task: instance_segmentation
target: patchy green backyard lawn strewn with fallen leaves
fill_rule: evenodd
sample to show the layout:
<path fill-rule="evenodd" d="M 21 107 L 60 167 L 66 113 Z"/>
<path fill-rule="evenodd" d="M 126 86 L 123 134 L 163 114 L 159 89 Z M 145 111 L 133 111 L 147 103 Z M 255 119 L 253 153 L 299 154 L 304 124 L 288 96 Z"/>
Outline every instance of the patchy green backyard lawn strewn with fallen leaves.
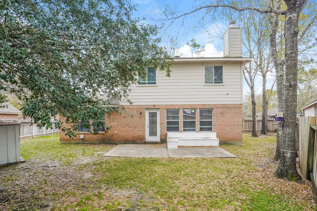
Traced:
<path fill-rule="evenodd" d="M 316 210 L 309 181 L 274 176 L 276 136 L 243 135 L 238 158 L 106 158 L 114 145 L 21 142 L 26 163 L 0 168 L 2 209 Z M 1 185 L 0 185 L 1 190 Z M 23 196 L 27 197 L 23 197 Z M 10 200 L 1 204 L 1 199 Z"/>

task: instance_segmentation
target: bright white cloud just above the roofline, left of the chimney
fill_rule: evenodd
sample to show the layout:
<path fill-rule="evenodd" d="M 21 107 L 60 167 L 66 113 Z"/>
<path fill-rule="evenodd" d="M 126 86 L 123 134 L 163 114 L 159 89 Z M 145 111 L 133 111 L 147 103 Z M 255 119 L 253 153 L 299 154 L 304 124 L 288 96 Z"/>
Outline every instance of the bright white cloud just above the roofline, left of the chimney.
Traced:
<path fill-rule="evenodd" d="M 180 57 L 223 57 L 223 52 L 217 51 L 217 48 L 212 43 L 207 43 L 206 47 L 198 49 L 197 53 L 194 51 L 189 45 L 184 45 L 175 50 L 175 55 L 179 55 Z"/>

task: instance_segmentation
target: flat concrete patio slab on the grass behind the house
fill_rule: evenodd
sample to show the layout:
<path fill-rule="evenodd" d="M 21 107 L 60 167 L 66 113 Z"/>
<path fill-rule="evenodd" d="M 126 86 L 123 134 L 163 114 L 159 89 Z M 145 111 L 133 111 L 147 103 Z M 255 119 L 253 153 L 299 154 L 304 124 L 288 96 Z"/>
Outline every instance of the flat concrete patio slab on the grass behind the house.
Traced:
<path fill-rule="evenodd" d="M 178 149 L 167 149 L 166 145 L 163 144 L 120 144 L 103 156 L 136 158 L 236 158 L 236 156 L 220 147 L 178 147 Z"/>

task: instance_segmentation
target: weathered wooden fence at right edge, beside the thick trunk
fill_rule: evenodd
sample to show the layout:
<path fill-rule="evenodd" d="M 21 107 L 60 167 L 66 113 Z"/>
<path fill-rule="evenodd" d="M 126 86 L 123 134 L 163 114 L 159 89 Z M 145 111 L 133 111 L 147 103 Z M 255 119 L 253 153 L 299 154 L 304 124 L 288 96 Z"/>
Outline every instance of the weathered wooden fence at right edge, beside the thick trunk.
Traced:
<path fill-rule="evenodd" d="M 316 117 L 299 117 L 297 154 L 303 177 L 312 181 L 317 202 L 317 121 Z"/>

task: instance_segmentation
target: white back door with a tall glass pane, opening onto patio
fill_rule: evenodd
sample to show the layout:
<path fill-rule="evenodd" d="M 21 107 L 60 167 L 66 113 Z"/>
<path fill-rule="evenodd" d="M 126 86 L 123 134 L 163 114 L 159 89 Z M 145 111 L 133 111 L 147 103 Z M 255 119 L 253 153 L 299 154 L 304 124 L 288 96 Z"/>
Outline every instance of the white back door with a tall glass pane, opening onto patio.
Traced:
<path fill-rule="evenodd" d="M 146 141 L 159 141 L 159 110 L 146 110 Z"/>

